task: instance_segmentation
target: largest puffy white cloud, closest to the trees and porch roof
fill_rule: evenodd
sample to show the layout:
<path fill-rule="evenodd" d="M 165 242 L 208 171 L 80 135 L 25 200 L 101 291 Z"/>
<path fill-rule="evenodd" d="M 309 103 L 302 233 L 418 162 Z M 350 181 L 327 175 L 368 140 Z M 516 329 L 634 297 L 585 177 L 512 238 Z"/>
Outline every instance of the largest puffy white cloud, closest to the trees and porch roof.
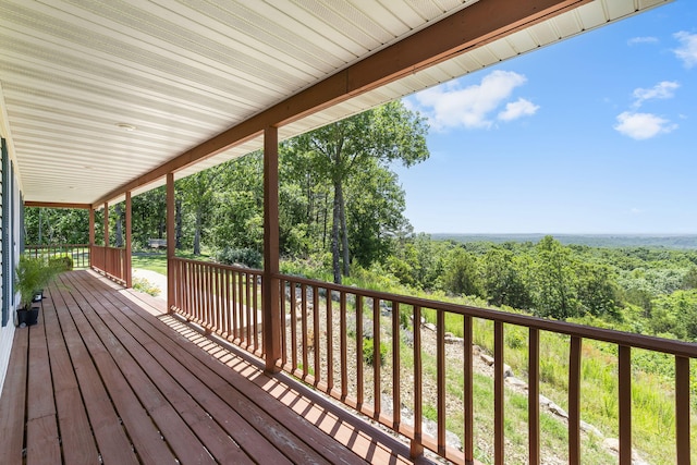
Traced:
<path fill-rule="evenodd" d="M 447 130 L 451 127 L 480 129 L 491 127 L 493 112 L 505 106 L 498 117 L 511 121 L 534 114 L 539 107 L 518 99 L 506 102 L 513 90 L 525 84 L 526 77 L 512 71 L 493 71 L 487 74 L 480 84 L 461 88 L 457 83 L 433 87 L 416 94 L 416 101 L 423 107 L 431 127 Z"/>

